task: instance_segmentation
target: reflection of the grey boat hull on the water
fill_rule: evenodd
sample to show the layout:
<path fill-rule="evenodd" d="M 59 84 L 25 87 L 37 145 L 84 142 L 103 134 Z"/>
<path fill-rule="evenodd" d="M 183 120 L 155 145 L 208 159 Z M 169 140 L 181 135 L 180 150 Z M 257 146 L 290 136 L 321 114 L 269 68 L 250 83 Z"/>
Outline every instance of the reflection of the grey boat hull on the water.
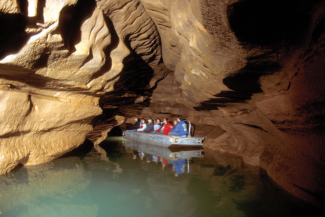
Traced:
<path fill-rule="evenodd" d="M 123 145 L 126 147 L 140 150 L 144 153 L 148 153 L 151 155 L 157 155 L 166 158 L 187 158 L 190 157 L 202 157 L 203 156 L 203 149 L 201 147 L 191 147 L 191 148 L 182 148 L 182 149 L 174 149 L 174 148 L 167 148 L 159 145 L 152 145 L 146 143 L 140 143 L 136 141 L 125 140 L 122 141 Z"/>

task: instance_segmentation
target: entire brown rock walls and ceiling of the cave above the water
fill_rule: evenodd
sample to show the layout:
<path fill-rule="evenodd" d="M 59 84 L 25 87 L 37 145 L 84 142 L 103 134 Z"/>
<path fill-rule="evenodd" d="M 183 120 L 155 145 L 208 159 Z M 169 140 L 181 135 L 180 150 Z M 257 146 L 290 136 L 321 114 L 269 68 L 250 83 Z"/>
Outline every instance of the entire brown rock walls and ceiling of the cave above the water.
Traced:
<path fill-rule="evenodd" d="M 0 0 L 0 30 L 0 174 L 182 114 L 324 201 L 324 0 Z"/>

